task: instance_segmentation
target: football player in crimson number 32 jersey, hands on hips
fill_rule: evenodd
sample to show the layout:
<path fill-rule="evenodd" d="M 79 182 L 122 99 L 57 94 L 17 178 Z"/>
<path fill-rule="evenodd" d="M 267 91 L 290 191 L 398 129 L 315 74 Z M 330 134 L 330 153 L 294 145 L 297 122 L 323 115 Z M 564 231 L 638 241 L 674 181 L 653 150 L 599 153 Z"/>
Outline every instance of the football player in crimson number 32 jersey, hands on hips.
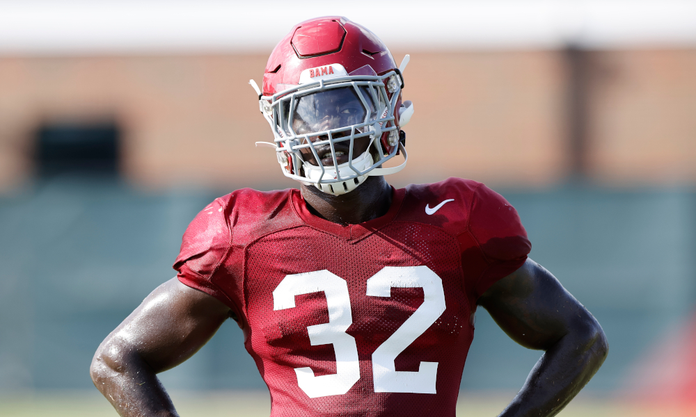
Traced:
<path fill-rule="evenodd" d="M 539 264 L 515 209 L 482 183 L 395 189 L 413 105 L 404 63 L 345 17 L 292 28 L 260 109 L 299 190 L 216 199 L 184 234 L 177 277 L 104 340 L 95 385 L 122 416 L 176 416 L 157 373 L 233 318 L 271 416 L 454 416 L 477 306 L 544 350 L 501 416 L 553 416 L 608 352 L 594 317 Z M 420 139 L 416 139 L 420 140 Z M 429 138 L 436 140 L 436 138 Z M 392 158 L 400 165 L 385 167 Z"/>

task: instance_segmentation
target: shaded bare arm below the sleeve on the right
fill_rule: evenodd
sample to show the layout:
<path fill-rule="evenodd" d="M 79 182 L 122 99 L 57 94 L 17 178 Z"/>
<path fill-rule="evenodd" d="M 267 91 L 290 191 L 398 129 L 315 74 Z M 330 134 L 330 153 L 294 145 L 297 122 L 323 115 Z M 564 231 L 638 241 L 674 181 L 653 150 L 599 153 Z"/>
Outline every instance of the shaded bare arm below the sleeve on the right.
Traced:
<path fill-rule="evenodd" d="M 478 304 L 514 341 L 545 351 L 500 417 L 555 416 L 607 356 L 599 322 L 531 259 L 488 288 Z"/>

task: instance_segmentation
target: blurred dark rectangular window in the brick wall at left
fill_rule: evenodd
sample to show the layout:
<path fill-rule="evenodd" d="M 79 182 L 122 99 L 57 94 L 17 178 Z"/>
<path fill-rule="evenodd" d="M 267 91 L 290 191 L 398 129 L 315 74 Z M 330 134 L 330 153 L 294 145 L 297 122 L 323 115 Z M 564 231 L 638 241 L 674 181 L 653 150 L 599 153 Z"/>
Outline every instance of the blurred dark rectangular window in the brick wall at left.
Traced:
<path fill-rule="evenodd" d="M 45 124 L 38 129 L 36 165 L 41 177 L 118 175 L 120 131 L 113 123 Z"/>

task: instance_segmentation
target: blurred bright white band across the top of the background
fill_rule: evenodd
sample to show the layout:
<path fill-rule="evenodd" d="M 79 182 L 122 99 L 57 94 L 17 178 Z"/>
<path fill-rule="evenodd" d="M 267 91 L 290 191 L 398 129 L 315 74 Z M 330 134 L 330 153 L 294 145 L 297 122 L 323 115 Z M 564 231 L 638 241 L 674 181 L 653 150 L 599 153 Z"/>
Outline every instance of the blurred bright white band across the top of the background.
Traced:
<path fill-rule="evenodd" d="M 3 0 L 0 54 L 265 54 L 321 15 L 361 23 L 391 49 L 696 46 L 695 0 Z"/>

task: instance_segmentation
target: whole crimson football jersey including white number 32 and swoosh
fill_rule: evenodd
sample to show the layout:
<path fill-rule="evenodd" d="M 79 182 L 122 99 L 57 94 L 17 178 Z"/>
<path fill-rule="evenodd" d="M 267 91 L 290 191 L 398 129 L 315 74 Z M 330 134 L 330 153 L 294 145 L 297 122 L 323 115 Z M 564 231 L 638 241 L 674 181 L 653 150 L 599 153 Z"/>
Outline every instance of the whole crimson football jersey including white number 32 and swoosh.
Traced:
<path fill-rule="evenodd" d="M 454 416 L 477 298 L 530 248 L 475 181 L 393 190 L 345 226 L 299 190 L 243 189 L 196 216 L 174 268 L 235 311 L 271 416 Z"/>

